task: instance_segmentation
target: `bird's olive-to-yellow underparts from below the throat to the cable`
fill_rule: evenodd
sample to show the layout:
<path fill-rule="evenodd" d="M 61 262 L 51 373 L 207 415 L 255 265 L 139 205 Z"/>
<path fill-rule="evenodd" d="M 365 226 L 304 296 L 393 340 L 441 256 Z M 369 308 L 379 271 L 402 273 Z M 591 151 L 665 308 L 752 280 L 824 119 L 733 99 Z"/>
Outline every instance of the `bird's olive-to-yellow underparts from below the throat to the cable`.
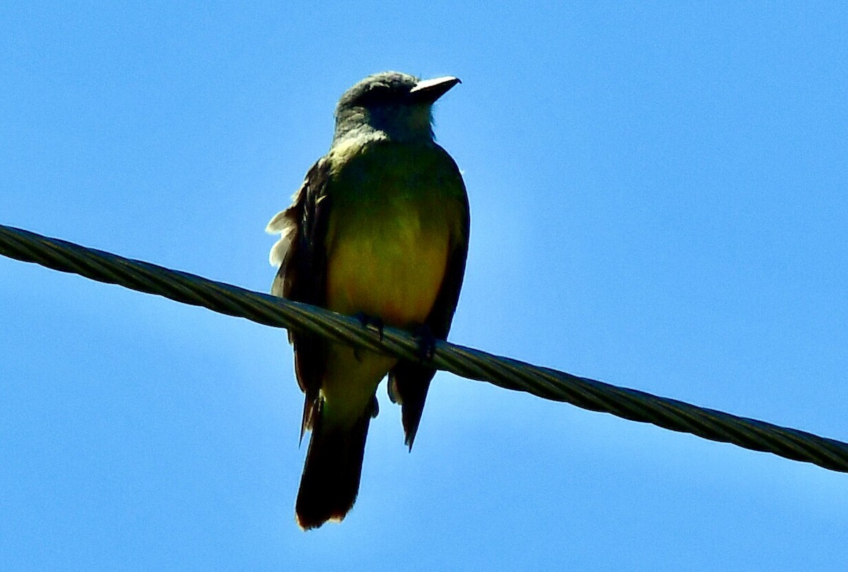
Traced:
<path fill-rule="evenodd" d="M 427 319 L 459 239 L 465 187 L 434 145 L 341 147 L 328 191 L 328 308 L 388 325 Z"/>

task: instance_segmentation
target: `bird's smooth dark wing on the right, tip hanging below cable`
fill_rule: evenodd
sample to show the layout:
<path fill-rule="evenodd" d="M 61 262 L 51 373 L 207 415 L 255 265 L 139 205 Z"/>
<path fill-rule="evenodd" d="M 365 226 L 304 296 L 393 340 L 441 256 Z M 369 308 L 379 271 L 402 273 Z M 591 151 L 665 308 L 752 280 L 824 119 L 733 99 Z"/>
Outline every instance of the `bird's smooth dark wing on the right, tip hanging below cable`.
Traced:
<path fill-rule="evenodd" d="M 447 153 L 445 155 L 448 156 Z M 449 158 L 449 161 L 453 164 L 453 159 Z M 462 208 L 460 231 L 459 236 L 451 237 L 451 250 L 442 286 L 439 288 L 436 302 L 425 321 L 425 325 L 430 329 L 432 336 L 438 340 L 448 338 L 450 322 L 454 319 L 456 303 L 460 298 L 462 278 L 466 271 L 468 237 L 471 230 L 471 215 L 469 214 L 465 185 L 462 182 L 459 169 L 456 168 L 455 164 L 453 166 L 462 190 L 462 198 L 459 203 Z M 433 375 L 436 375 L 435 369 L 406 360 L 399 361 L 388 374 L 388 395 L 394 403 L 401 405 L 404 442 L 410 449 L 416 439 L 418 425 L 421 423 L 421 413 L 424 411 L 424 402 L 427 399 L 427 390 L 430 388 Z"/>

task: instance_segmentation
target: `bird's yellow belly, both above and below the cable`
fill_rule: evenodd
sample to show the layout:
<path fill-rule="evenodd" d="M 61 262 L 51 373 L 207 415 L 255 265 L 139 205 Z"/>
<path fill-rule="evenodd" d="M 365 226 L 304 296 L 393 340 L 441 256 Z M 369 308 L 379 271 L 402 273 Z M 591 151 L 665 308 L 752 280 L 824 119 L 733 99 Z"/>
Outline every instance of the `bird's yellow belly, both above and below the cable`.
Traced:
<path fill-rule="evenodd" d="M 328 244 L 327 308 L 342 314 L 362 312 L 386 325 L 420 325 L 436 300 L 448 258 L 449 230 L 422 229 L 414 214 L 368 222 L 332 225 Z M 358 419 L 377 384 L 396 358 L 356 351 L 333 343 L 326 354 L 321 384 L 326 422 Z"/>

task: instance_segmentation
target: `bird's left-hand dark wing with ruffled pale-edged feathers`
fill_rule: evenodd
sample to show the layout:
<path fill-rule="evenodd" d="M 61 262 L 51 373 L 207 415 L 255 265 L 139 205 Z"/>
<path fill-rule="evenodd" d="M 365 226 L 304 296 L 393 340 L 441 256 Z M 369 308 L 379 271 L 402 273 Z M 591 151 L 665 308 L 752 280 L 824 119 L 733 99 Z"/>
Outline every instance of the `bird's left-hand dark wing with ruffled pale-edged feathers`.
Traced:
<path fill-rule="evenodd" d="M 282 233 L 280 242 L 271 250 L 272 261 L 276 258 L 280 262 L 271 286 L 271 293 L 275 296 L 315 306 L 326 304 L 324 239 L 330 213 L 330 197 L 327 196 L 329 173 L 329 161 L 319 159 L 294 194 L 292 206 L 271 219 L 269 230 Z M 287 232 L 288 241 L 284 242 Z M 304 430 L 312 428 L 317 412 L 326 344 L 320 336 L 294 330 L 289 330 L 288 340 L 294 347 L 298 385 L 305 394 L 304 417 L 300 426 L 300 436 L 303 437 Z"/>

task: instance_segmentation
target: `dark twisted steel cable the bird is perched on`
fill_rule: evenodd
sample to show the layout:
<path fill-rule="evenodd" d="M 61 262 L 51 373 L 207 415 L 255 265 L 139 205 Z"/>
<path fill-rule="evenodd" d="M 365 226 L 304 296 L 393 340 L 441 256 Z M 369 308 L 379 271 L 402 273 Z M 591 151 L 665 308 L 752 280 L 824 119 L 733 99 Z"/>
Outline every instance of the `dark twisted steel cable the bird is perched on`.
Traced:
<path fill-rule="evenodd" d="M 123 258 L 28 230 L 0 225 L 0 254 L 92 280 L 203 306 L 278 328 L 293 328 L 399 358 L 418 359 L 418 342 L 404 330 L 363 327 L 359 320 L 187 272 Z M 571 403 L 711 441 L 733 443 L 824 469 L 848 472 L 848 443 L 801 430 L 700 408 L 667 397 L 525 364 L 470 347 L 437 342 L 432 366 L 514 391 Z"/>

